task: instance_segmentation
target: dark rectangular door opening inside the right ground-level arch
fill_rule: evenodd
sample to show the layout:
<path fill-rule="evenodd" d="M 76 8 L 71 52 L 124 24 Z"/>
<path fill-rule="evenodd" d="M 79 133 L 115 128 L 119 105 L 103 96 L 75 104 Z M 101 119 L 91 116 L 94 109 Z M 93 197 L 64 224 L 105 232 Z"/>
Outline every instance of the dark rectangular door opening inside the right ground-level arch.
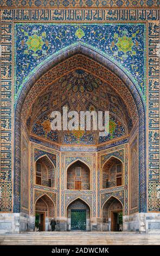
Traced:
<path fill-rule="evenodd" d="M 121 231 L 123 224 L 121 211 L 111 211 L 111 231 Z"/>

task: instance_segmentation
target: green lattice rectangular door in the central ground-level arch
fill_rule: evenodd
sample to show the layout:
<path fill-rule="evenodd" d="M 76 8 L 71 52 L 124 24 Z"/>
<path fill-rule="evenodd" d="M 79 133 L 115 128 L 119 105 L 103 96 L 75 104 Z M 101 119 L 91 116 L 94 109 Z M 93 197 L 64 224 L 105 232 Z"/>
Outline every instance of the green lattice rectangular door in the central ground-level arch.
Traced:
<path fill-rule="evenodd" d="M 71 210 L 71 230 L 86 230 L 86 210 Z"/>

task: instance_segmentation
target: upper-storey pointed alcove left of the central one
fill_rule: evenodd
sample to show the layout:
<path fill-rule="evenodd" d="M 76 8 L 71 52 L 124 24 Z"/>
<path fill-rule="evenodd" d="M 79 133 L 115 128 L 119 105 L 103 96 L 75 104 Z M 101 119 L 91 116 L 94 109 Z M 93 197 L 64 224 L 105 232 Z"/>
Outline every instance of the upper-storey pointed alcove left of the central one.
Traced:
<path fill-rule="evenodd" d="M 35 163 L 35 184 L 55 187 L 55 168 L 46 155 L 42 156 Z"/>

